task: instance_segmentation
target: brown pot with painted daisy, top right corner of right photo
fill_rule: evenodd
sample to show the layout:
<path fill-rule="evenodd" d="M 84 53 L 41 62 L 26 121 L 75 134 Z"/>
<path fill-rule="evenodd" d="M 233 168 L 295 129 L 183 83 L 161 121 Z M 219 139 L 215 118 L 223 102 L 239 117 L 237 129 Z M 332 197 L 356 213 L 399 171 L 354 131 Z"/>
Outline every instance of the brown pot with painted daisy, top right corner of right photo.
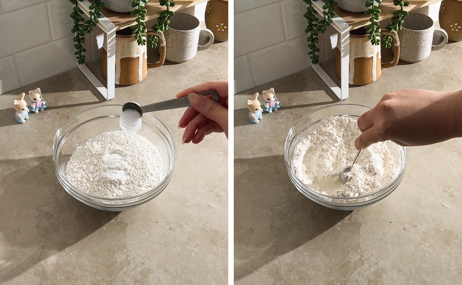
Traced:
<path fill-rule="evenodd" d="M 450 41 L 462 41 L 462 0 L 444 0 L 439 8 L 439 26 Z"/>

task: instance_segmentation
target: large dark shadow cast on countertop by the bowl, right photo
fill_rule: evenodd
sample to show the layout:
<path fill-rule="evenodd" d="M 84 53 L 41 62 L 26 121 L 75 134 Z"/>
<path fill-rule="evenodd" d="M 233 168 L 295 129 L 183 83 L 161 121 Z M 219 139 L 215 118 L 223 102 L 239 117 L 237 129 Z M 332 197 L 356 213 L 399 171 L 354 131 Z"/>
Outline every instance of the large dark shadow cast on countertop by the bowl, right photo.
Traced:
<path fill-rule="evenodd" d="M 261 161 L 261 157 L 234 160 L 235 281 L 316 238 L 352 213 L 326 208 L 298 192 L 287 176 L 283 155 Z M 258 169 L 256 173 L 252 166 Z"/>

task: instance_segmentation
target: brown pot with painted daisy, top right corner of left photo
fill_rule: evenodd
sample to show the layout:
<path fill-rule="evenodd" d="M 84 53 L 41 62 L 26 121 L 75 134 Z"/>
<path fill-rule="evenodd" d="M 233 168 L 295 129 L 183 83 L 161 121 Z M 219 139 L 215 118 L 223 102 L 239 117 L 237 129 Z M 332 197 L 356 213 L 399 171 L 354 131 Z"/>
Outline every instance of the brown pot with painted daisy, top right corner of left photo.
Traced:
<path fill-rule="evenodd" d="M 205 10 L 205 25 L 216 41 L 228 40 L 228 0 L 210 0 Z"/>

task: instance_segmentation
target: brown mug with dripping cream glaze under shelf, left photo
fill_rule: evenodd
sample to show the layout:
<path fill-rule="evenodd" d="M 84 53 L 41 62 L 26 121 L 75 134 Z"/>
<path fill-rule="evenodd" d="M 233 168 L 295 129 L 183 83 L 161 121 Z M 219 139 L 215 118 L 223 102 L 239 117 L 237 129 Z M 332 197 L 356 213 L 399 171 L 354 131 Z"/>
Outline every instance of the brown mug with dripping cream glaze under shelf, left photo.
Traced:
<path fill-rule="evenodd" d="M 159 31 L 147 30 L 147 36 L 158 36 L 160 59 L 155 63 L 147 62 L 147 45 L 138 45 L 135 35 L 132 34 L 131 28 L 116 31 L 116 84 L 133 85 L 141 82 L 146 78 L 149 68 L 159 67 L 165 61 L 165 38 L 164 34 Z M 103 76 L 107 79 L 107 52 L 106 52 L 106 34 L 104 34 L 103 43 Z"/>

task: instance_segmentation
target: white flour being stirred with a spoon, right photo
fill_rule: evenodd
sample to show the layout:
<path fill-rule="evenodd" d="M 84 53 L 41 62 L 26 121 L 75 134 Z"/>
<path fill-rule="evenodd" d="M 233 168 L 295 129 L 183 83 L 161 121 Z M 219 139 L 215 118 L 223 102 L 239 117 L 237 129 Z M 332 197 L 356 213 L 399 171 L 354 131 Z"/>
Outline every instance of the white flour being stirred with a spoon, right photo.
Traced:
<path fill-rule="evenodd" d="M 389 184 L 396 177 L 396 166 L 387 145 L 381 142 L 361 151 L 351 179 L 341 185 L 340 172 L 351 166 L 358 154 L 354 141 L 360 134 L 354 119 L 322 119 L 296 147 L 295 175 L 310 188 L 337 197 L 367 195 Z"/>

